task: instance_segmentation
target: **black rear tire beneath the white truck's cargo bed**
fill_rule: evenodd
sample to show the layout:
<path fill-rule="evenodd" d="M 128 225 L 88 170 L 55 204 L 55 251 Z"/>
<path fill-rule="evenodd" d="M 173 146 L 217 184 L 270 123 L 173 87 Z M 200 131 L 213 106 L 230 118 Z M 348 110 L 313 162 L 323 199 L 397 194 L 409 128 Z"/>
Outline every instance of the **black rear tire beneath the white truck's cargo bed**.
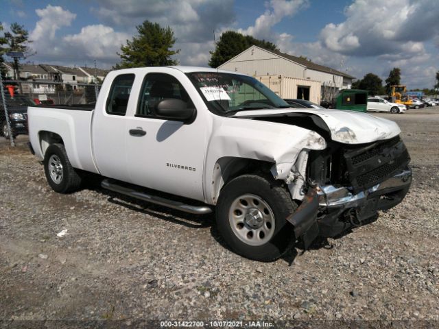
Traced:
<path fill-rule="evenodd" d="M 61 164 L 60 175 L 56 175 L 54 171 L 54 164 L 59 160 Z M 66 149 L 62 144 L 51 144 L 47 147 L 44 154 L 44 171 L 47 182 L 50 187 L 58 193 L 71 193 L 78 191 L 81 185 L 81 176 L 71 166 Z M 58 178 L 54 178 L 54 176 Z"/>

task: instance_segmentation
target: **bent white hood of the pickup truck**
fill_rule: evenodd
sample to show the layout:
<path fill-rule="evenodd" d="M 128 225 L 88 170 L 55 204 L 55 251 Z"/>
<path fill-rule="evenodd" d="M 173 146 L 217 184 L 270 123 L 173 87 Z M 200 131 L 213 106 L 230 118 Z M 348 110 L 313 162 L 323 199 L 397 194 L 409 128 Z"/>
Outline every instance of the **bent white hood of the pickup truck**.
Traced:
<path fill-rule="evenodd" d="M 270 117 L 303 117 L 313 118 L 320 127 L 331 134 L 333 141 L 344 144 L 372 143 L 397 136 L 399 126 L 387 119 L 374 117 L 367 113 L 346 110 L 318 109 L 278 109 L 278 110 L 248 110 L 237 112 L 233 117 L 264 120 Z M 319 118 L 320 120 L 318 120 Z M 316 120 L 317 119 L 317 120 Z M 293 123 L 292 123 L 293 121 Z M 323 121 L 319 122 L 319 121 Z M 294 119 L 285 121 L 294 125 Z"/>

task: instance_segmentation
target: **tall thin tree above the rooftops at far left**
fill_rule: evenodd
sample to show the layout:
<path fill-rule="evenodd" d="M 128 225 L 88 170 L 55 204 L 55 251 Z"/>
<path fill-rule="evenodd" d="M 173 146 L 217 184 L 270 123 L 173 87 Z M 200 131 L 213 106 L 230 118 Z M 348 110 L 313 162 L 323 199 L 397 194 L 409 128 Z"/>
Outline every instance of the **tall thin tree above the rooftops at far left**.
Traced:
<path fill-rule="evenodd" d="M 8 44 L 6 51 L 18 51 L 24 54 L 24 58 L 34 55 L 32 49 L 29 47 L 29 32 L 23 25 L 19 23 L 11 24 L 11 32 L 5 34 L 6 43 Z M 14 69 L 14 80 L 20 78 L 20 58 L 14 57 L 12 62 L 12 69 Z"/>

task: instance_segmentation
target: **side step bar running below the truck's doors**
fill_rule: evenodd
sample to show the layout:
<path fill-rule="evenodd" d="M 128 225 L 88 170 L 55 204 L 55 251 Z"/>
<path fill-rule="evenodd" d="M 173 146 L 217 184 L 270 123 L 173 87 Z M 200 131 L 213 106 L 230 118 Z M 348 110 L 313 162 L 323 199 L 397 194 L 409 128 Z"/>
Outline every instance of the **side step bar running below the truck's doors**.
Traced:
<path fill-rule="evenodd" d="M 159 204 L 161 206 L 173 208 L 176 210 L 190 212 L 191 214 L 205 215 L 212 212 L 212 208 L 209 206 L 191 206 L 190 204 L 183 204 L 182 202 L 139 192 L 134 190 L 133 188 L 129 188 L 126 186 L 120 186 L 116 183 L 110 182 L 110 180 L 108 179 L 103 180 L 101 182 L 101 186 L 103 188 L 106 188 L 107 190 L 121 193 L 123 195 L 128 195 L 128 197 L 134 197 L 136 199 L 141 199 L 146 202 L 151 202 L 152 204 Z"/>

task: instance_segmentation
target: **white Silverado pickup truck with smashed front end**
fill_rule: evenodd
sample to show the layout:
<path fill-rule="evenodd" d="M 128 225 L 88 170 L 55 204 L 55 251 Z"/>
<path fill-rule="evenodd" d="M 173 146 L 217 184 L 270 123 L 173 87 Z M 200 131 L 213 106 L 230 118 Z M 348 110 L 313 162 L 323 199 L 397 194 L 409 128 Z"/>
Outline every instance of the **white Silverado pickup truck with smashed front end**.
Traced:
<path fill-rule="evenodd" d="M 95 106 L 28 108 L 51 188 L 102 186 L 206 214 L 237 254 L 279 258 L 392 208 L 410 187 L 396 123 L 293 109 L 248 75 L 169 66 L 112 71 Z"/>

